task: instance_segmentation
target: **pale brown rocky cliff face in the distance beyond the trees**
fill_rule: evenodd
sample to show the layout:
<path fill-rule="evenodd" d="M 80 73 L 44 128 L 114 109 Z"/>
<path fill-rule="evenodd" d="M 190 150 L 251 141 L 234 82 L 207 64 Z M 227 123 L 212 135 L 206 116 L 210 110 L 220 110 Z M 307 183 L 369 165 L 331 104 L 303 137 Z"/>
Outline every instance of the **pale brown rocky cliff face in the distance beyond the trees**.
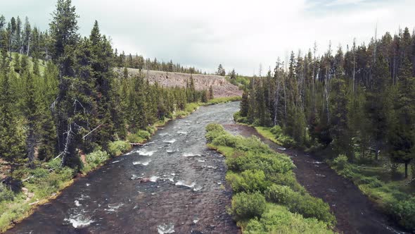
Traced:
<path fill-rule="evenodd" d="M 117 68 L 118 73 L 122 73 L 121 68 Z M 128 68 L 129 75 L 138 75 L 139 69 Z M 149 82 L 158 82 L 159 85 L 165 87 L 185 87 L 186 81 L 190 81 L 190 74 L 186 73 L 167 73 L 159 70 L 141 70 L 146 75 Z M 242 91 L 237 86 L 232 85 L 223 76 L 219 75 L 196 75 L 193 74 L 193 81 L 196 90 L 209 90 L 210 85 L 213 88 L 215 97 L 234 97 L 241 96 Z"/>

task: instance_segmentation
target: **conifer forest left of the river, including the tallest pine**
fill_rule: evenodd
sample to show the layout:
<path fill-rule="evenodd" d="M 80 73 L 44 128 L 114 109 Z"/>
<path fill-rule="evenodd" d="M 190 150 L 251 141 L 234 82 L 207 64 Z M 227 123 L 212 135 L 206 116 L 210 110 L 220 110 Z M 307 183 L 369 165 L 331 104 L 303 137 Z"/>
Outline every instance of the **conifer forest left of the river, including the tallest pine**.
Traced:
<path fill-rule="evenodd" d="M 51 16 L 48 32 L 29 30 L 26 20 L 23 35 L 20 20 L 5 26 L 0 18 L 2 160 L 33 167 L 60 157 L 61 166 L 80 168 L 79 154 L 106 150 L 186 104 L 212 98 L 196 91 L 193 78 L 186 87 L 167 88 L 144 74 L 115 73 L 119 56 L 108 37 L 97 21 L 89 37 L 81 37 L 70 0 L 58 0 Z M 45 56 L 50 59 L 39 59 Z"/>

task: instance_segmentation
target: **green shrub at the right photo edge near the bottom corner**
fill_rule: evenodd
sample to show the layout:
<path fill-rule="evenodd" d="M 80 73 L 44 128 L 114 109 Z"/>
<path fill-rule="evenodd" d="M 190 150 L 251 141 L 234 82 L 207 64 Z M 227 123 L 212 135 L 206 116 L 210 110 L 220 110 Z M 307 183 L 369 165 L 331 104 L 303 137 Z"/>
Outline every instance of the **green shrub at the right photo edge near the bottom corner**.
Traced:
<path fill-rule="evenodd" d="M 399 223 L 409 230 L 415 229 L 415 197 L 392 205 L 392 211 L 399 217 Z"/>

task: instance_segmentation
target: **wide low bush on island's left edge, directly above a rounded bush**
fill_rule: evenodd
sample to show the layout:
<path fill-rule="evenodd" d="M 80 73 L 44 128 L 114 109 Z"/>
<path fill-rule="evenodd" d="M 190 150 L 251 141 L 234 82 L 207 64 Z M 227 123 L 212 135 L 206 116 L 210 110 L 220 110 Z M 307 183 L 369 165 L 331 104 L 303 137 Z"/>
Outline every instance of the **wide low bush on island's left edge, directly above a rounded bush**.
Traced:
<path fill-rule="evenodd" d="M 243 171 L 241 174 L 228 173 L 226 180 L 234 192 L 264 192 L 269 186 L 264 171 Z"/>

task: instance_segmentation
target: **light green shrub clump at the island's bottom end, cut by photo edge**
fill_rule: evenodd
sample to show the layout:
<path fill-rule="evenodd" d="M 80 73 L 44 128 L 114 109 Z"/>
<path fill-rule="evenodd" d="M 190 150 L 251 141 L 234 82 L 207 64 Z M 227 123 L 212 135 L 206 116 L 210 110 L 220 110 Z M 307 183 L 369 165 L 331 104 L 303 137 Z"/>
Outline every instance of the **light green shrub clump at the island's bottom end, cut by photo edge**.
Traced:
<path fill-rule="evenodd" d="M 253 218 L 245 228 L 246 233 L 333 233 L 326 223 L 315 218 L 303 218 L 290 213 L 285 207 L 272 205 L 260 219 Z M 245 233 L 244 232 L 244 233 Z"/>

